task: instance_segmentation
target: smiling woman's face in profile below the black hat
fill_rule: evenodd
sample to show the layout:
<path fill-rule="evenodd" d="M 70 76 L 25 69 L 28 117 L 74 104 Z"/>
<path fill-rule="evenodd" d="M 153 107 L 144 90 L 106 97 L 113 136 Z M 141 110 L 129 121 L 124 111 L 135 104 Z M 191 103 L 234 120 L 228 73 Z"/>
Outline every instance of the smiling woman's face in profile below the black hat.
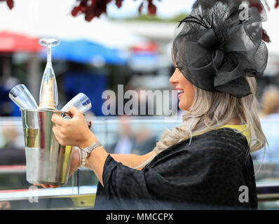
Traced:
<path fill-rule="evenodd" d="M 193 97 L 195 96 L 193 84 L 190 83 L 177 68 L 170 77 L 170 83 L 175 85 L 175 90 L 178 90 L 179 109 L 182 111 L 189 111 L 193 104 Z"/>

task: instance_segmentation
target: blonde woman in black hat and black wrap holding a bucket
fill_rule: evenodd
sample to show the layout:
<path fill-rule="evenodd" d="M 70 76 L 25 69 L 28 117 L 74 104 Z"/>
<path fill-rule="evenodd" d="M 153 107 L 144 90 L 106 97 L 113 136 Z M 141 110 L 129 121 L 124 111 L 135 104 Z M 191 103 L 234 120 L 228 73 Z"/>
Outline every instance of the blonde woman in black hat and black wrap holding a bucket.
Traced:
<path fill-rule="evenodd" d="M 257 209 L 250 153 L 266 145 L 253 77 L 266 68 L 264 8 L 259 1 L 241 3 L 196 1 L 179 23 L 170 83 L 179 92 L 183 123 L 150 153 L 109 155 L 78 109 L 69 110 L 71 120 L 53 116 L 60 144 L 94 148 L 85 165 L 100 181 L 96 209 Z M 71 172 L 82 163 L 76 150 Z"/>

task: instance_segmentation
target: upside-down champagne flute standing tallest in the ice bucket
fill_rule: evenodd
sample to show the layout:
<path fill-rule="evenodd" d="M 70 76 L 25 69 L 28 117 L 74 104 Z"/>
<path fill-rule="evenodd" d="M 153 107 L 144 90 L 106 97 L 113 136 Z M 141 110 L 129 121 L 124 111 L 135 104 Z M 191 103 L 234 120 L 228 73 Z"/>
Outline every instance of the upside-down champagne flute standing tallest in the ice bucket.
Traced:
<path fill-rule="evenodd" d="M 57 110 L 58 92 L 51 61 L 51 47 L 59 45 L 60 41 L 55 38 L 41 38 L 39 43 L 48 48 L 46 69 L 43 72 L 43 78 L 41 80 L 39 109 Z"/>

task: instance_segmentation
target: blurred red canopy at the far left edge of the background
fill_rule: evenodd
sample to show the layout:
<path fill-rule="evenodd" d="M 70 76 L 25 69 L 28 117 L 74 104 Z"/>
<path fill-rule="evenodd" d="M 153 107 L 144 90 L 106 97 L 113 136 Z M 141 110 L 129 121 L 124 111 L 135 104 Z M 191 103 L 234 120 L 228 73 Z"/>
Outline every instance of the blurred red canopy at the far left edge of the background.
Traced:
<path fill-rule="evenodd" d="M 38 52 L 43 46 L 38 38 L 16 34 L 9 31 L 0 32 L 0 52 Z"/>

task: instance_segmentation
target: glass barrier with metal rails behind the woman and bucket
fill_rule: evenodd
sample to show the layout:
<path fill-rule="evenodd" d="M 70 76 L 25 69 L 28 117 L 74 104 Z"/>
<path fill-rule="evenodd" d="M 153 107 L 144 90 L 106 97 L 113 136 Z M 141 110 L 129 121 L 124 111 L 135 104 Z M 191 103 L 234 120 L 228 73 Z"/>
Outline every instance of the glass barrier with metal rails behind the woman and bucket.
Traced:
<path fill-rule="evenodd" d="M 137 155 L 151 151 L 166 129 L 172 130 L 182 123 L 182 120 L 154 117 L 97 117 L 90 121 L 91 131 L 108 153 Z M 279 120 L 261 120 L 261 125 L 269 148 L 266 148 L 265 156 L 264 150 L 252 153 L 259 188 L 259 209 L 279 209 Z M 0 133 L 0 205 L 8 202 L 11 209 L 93 207 L 98 183 L 94 172 L 84 167 L 74 172 L 65 186 L 55 189 L 34 188 L 26 180 L 21 118 L 1 118 Z M 30 192 L 35 192 L 35 196 L 39 197 L 38 203 L 32 203 Z M 271 194 L 275 196 L 268 200 L 266 193 L 270 198 Z"/>

